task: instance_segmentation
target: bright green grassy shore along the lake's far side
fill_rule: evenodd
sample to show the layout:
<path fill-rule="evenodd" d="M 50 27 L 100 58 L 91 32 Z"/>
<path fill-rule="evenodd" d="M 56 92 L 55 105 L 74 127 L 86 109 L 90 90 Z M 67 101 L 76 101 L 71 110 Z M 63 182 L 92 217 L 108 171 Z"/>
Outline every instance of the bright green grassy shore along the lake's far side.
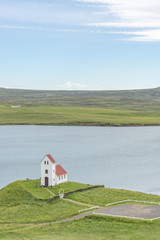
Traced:
<path fill-rule="evenodd" d="M 160 125 L 160 111 L 82 107 L 0 106 L 0 125 L 147 126 Z"/>

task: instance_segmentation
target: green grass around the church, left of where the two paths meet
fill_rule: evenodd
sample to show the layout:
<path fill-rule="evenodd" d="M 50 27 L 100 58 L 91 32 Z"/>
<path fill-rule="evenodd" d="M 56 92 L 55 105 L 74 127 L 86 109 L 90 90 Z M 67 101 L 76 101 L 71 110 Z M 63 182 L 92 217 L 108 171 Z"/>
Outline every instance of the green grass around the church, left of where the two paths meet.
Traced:
<path fill-rule="evenodd" d="M 38 187 L 36 188 L 36 184 Z M 75 182 L 61 184 L 67 191 L 86 188 L 88 185 Z M 59 187 L 55 187 L 58 193 Z M 54 187 L 52 188 L 54 190 Z M 1 223 L 37 223 L 58 221 L 78 214 L 84 209 L 60 199 L 48 203 L 51 194 L 40 186 L 40 180 L 16 181 L 0 190 L 0 222 Z"/>

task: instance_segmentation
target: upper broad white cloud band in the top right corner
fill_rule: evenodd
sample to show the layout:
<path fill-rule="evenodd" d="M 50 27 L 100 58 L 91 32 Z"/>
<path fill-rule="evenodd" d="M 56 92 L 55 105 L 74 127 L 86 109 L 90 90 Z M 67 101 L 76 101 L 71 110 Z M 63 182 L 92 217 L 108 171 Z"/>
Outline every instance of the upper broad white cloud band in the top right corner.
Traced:
<path fill-rule="evenodd" d="M 93 22 L 90 25 L 102 27 L 157 27 L 160 26 L 159 0 L 77 0 L 86 3 L 104 4 L 112 20 Z M 102 12 L 105 14 L 105 12 Z"/>

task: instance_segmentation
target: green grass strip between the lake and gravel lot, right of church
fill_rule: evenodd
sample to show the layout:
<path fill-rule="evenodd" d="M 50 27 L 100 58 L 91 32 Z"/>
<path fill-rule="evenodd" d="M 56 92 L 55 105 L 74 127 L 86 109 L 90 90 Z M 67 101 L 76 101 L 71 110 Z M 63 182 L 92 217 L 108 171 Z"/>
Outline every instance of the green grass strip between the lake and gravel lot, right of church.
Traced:
<path fill-rule="evenodd" d="M 112 188 L 97 188 L 86 190 L 85 192 L 78 192 L 68 195 L 67 198 L 99 206 L 105 206 L 108 203 L 123 201 L 127 199 L 160 202 L 160 196 L 158 195 Z"/>

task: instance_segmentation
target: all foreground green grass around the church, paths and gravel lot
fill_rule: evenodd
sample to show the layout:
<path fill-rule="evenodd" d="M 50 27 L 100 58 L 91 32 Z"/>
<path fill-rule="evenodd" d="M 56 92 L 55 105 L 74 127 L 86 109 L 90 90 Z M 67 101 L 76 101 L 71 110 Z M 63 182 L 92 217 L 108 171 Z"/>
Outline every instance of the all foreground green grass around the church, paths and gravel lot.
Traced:
<path fill-rule="evenodd" d="M 86 207 L 59 199 L 48 203 L 48 192 L 39 184 L 39 180 L 16 181 L 0 190 L 0 239 L 159 239 L 160 220 L 150 222 L 88 216 L 72 222 L 53 223 L 74 216 L 78 214 L 79 209 Z M 74 182 L 63 184 L 66 192 L 83 187 L 88 185 Z M 99 205 L 128 198 L 160 202 L 160 196 L 110 188 L 86 190 L 69 196 L 80 202 Z"/>

